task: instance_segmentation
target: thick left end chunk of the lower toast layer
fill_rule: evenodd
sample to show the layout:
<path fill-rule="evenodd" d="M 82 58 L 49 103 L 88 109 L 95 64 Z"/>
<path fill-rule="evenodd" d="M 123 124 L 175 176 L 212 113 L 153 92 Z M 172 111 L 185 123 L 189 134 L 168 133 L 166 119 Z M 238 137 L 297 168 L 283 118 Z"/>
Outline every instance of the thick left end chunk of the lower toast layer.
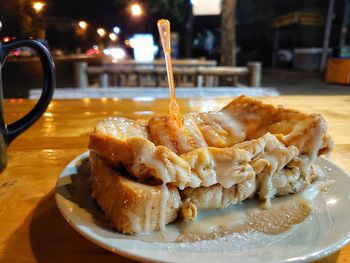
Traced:
<path fill-rule="evenodd" d="M 134 234 L 158 230 L 161 187 L 135 182 L 90 152 L 92 197 L 121 233 Z M 165 223 L 174 221 L 181 205 L 179 192 L 169 187 Z"/>

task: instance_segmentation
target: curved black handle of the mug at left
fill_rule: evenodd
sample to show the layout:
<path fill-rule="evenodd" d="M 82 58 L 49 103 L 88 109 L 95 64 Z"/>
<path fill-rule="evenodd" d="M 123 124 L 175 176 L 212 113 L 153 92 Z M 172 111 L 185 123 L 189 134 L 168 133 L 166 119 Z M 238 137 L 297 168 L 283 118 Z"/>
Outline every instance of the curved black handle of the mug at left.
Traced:
<path fill-rule="evenodd" d="M 18 135 L 28 129 L 41 117 L 49 105 L 56 85 L 55 64 L 47 48 L 37 40 L 21 39 L 14 42 L 3 43 L 0 51 L 0 62 L 4 63 L 6 56 L 16 48 L 30 47 L 36 51 L 44 73 L 44 84 L 39 101 L 34 108 L 21 119 L 7 125 L 5 140 L 9 145 Z"/>

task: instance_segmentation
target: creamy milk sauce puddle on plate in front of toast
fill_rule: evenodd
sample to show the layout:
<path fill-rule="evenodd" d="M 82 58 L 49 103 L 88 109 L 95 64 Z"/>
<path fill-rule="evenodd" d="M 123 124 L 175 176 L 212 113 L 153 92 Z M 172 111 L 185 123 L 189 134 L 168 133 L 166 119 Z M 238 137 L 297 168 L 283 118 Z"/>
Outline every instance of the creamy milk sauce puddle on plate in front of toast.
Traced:
<path fill-rule="evenodd" d="M 319 193 L 316 186 L 310 186 L 297 194 L 276 197 L 268 210 L 259 208 L 259 202 L 251 199 L 225 209 L 199 211 L 195 221 L 172 223 L 163 231 L 132 238 L 146 242 L 193 243 L 234 233 L 278 235 L 302 223 L 312 214 L 313 203 L 319 199 Z"/>

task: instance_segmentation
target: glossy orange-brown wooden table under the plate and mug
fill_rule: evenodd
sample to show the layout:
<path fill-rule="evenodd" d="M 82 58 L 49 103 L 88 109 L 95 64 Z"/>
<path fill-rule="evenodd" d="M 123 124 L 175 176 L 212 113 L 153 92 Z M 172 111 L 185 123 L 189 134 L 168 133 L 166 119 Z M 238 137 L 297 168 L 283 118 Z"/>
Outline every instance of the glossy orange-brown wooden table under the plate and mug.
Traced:
<path fill-rule="evenodd" d="M 219 109 L 229 99 L 180 100 L 182 112 Z M 332 161 L 350 171 L 350 96 L 264 98 L 327 119 L 336 148 Z M 7 100 L 7 122 L 34 101 Z M 65 165 L 87 150 L 95 123 L 109 115 L 149 118 L 166 114 L 167 100 L 82 99 L 53 101 L 44 116 L 8 149 L 0 174 L 0 262 L 129 262 L 80 236 L 60 215 L 54 201 L 56 179 Z M 319 262 L 346 262 L 350 245 Z M 350 261 L 349 261 L 350 262 Z"/>

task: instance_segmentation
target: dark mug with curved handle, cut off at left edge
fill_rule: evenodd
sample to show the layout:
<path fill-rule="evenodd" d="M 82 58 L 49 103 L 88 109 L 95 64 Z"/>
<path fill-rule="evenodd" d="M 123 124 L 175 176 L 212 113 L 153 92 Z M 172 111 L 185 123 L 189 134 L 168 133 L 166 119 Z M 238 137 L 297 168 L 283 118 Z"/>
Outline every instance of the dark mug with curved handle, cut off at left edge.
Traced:
<path fill-rule="evenodd" d="M 4 111 L 3 111 L 3 89 L 2 89 L 2 78 L 1 68 L 6 60 L 6 56 L 13 50 L 20 47 L 29 47 L 36 51 L 36 54 L 40 58 L 40 62 L 44 74 L 43 91 L 40 99 L 34 108 L 24 117 L 11 123 L 5 124 Z M 53 91 L 55 88 L 55 65 L 52 57 L 47 48 L 39 41 L 32 39 L 15 40 L 6 43 L 0 42 L 0 172 L 2 172 L 7 165 L 6 150 L 9 144 L 22 132 L 28 129 L 34 124 L 36 120 L 45 112 L 49 105 Z"/>

